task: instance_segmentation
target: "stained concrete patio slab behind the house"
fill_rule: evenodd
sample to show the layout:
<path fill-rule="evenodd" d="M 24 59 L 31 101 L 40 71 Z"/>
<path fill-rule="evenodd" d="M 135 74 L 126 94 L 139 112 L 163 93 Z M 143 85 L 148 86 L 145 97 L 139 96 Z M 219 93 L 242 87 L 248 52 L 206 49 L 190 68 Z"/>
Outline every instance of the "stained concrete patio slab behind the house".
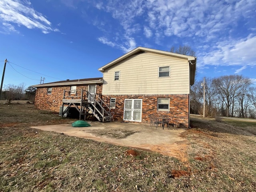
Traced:
<path fill-rule="evenodd" d="M 72 127 L 72 124 L 60 124 L 60 125 L 47 125 L 47 126 L 33 126 L 32 128 L 53 131 L 67 134 L 69 136 L 77 136 L 82 138 L 88 138 L 99 142 L 108 142 L 115 145 L 139 148 L 143 150 L 150 150 L 159 152 L 161 154 L 175 156 L 174 151 L 177 147 L 176 142 L 181 142 L 184 138 L 181 138 L 180 133 L 185 129 L 167 129 L 162 127 L 157 129 L 149 125 L 124 123 L 124 122 L 88 122 L 90 127 Z M 136 132 L 126 138 L 110 138 L 107 135 L 97 136 L 90 133 L 92 130 L 109 129 L 113 130 L 129 130 Z"/>

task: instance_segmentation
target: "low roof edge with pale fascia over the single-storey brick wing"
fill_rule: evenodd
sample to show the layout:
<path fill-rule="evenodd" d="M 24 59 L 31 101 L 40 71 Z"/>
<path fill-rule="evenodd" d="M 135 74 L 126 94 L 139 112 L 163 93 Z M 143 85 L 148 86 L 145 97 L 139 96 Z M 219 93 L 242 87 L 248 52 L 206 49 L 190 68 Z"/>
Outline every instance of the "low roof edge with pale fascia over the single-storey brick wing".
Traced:
<path fill-rule="evenodd" d="M 66 86 L 66 85 L 88 85 L 88 84 L 103 84 L 102 77 L 98 78 L 86 78 L 86 79 L 76 79 L 76 80 L 65 80 L 56 81 L 38 85 L 32 85 L 32 87 L 52 87 L 52 86 Z"/>

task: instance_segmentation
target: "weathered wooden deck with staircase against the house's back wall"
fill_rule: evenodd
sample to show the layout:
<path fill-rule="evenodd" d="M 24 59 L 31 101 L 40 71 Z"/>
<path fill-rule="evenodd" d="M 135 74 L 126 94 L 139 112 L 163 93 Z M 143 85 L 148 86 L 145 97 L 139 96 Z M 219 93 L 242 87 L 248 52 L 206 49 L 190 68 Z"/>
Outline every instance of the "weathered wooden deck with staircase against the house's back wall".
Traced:
<path fill-rule="evenodd" d="M 65 110 L 64 107 L 66 106 Z M 68 109 L 74 106 L 79 112 L 79 120 L 84 115 L 84 120 L 89 114 L 93 114 L 95 118 L 100 122 L 110 122 L 113 119 L 113 113 L 110 112 L 109 106 L 100 98 L 99 94 L 92 94 L 84 90 L 76 91 L 75 94 L 71 94 L 70 91 L 64 90 L 63 99 L 62 99 L 62 112 L 60 111 L 61 116 L 63 117 Z"/>

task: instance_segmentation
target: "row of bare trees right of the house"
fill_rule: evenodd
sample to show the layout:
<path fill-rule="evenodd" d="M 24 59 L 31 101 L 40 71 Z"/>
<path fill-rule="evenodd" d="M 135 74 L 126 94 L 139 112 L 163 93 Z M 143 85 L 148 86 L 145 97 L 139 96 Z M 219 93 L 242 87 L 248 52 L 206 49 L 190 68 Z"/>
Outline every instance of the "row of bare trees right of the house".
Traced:
<path fill-rule="evenodd" d="M 190 89 L 190 113 L 203 114 L 201 81 Z M 256 118 L 256 87 L 242 75 L 205 78 L 205 116 Z"/>

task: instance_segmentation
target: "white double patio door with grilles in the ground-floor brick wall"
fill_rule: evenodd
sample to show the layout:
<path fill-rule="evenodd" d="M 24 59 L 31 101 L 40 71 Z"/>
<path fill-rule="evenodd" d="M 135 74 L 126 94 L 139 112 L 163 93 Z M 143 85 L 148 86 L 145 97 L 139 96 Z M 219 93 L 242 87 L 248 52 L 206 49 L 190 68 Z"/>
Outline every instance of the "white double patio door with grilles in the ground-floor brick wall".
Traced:
<path fill-rule="evenodd" d="M 141 122 L 142 99 L 124 100 L 124 120 Z"/>

